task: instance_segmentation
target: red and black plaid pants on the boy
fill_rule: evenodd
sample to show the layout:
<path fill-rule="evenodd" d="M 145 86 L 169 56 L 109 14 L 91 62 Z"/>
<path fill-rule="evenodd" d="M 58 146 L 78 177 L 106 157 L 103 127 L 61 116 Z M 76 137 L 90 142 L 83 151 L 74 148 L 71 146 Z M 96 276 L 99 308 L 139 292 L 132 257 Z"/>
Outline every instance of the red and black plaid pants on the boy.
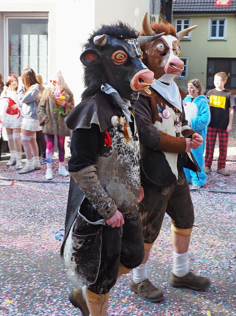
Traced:
<path fill-rule="evenodd" d="M 209 168 L 211 167 L 217 133 L 219 136 L 219 145 L 220 145 L 218 169 L 223 169 L 225 168 L 229 134 L 227 133 L 226 130 L 222 130 L 220 128 L 210 127 L 210 126 L 208 126 L 207 134 L 206 134 L 205 166 Z"/>

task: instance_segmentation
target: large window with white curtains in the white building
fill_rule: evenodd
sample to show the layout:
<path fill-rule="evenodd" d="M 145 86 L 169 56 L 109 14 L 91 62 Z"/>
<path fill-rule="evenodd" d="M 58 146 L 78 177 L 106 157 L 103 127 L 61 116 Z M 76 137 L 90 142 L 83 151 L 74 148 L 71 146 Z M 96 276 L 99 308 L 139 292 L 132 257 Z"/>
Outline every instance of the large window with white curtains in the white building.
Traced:
<path fill-rule="evenodd" d="M 31 67 L 47 83 L 48 19 L 8 17 L 7 30 L 8 73 L 21 76 L 23 69 Z"/>

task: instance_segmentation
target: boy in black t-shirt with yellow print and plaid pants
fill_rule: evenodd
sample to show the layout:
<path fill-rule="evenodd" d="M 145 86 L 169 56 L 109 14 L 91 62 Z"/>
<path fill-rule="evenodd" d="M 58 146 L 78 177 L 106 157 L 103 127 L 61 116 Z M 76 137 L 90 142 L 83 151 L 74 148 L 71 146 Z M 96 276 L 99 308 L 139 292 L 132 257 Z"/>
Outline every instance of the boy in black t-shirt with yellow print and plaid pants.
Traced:
<path fill-rule="evenodd" d="M 229 176 L 230 172 L 225 170 L 227 156 L 228 135 L 232 131 L 233 123 L 233 94 L 224 88 L 228 76 L 221 71 L 214 76 L 215 89 L 209 90 L 206 94 L 210 105 L 210 124 L 206 135 L 205 173 L 211 172 L 211 163 L 216 143 L 216 136 L 219 136 L 220 154 L 218 158 L 217 172 L 223 176 Z"/>

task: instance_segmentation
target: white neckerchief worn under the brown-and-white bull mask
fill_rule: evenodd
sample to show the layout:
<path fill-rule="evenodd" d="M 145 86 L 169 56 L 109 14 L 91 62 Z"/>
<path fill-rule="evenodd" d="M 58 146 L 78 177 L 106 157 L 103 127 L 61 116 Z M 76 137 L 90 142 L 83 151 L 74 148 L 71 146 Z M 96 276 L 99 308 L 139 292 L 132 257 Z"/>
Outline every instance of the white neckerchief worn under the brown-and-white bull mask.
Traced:
<path fill-rule="evenodd" d="M 154 83 L 151 85 L 151 87 L 155 89 L 161 96 L 163 96 L 166 101 L 182 112 L 180 91 L 174 81 L 167 85 L 157 79 L 154 79 Z"/>

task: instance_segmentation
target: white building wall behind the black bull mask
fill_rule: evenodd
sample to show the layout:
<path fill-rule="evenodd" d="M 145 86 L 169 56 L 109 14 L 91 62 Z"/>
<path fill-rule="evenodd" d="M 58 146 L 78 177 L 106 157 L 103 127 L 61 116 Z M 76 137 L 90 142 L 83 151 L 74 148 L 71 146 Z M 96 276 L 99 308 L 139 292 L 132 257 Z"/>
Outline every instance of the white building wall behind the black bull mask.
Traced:
<path fill-rule="evenodd" d="M 55 71 L 61 70 L 74 94 L 76 104 L 79 103 L 83 91 L 83 68 L 79 56 L 89 33 L 101 24 L 117 20 L 140 30 L 142 17 L 149 11 L 148 0 L 8 0 L 0 3 L 2 44 L 5 14 L 21 15 L 26 12 L 35 17 L 40 12 L 48 14 L 48 80 Z M 6 45 L 8 43 L 4 43 Z M 8 74 L 5 64 L 3 45 L 0 45 L 0 72 L 4 79 Z"/>

